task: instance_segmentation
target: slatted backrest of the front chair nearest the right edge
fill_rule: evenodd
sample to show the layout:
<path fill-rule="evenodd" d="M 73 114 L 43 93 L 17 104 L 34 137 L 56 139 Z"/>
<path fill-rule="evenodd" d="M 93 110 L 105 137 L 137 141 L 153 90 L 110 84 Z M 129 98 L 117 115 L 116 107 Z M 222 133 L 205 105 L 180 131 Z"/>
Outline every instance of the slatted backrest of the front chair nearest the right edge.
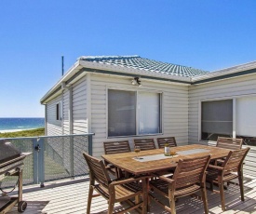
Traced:
<path fill-rule="evenodd" d="M 222 163 L 225 172 L 241 171 L 244 159 L 249 152 L 249 147 L 246 149 L 230 151 L 225 161 Z"/>

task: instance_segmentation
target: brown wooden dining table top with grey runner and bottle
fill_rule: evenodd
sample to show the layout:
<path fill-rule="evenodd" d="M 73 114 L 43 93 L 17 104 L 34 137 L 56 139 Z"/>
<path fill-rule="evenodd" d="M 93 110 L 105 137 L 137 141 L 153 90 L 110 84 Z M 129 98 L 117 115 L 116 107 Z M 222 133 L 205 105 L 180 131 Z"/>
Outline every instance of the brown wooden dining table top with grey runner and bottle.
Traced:
<path fill-rule="evenodd" d="M 211 154 L 210 159 L 217 159 L 227 156 L 230 152 L 228 149 L 192 144 L 185 146 L 170 147 L 170 151 L 175 151 L 177 154 L 171 158 L 164 155 L 164 149 L 155 149 L 141 151 L 138 154 L 142 159 L 136 160 L 134 152 L 123 154 L 103 154 L 102 158 L 135 175 L 151 173 L 161 170 L 166 170 L 170 167 L 176 167 L 179 159 L 193 158 L 196 156 Z M 159 154 L 163 154 L 162 156 Z"/>

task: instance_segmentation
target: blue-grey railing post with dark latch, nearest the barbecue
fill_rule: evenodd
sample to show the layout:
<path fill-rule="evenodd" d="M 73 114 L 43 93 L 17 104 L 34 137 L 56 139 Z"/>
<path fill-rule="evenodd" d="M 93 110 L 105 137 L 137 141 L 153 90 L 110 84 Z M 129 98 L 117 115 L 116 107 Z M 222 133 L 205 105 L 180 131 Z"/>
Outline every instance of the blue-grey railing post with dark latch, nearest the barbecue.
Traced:
<path fill-rule="evenodd" d="M 44 139 L 34 139 L 34 183 L 44 187 L 45 182 L 45 144 Z"/>

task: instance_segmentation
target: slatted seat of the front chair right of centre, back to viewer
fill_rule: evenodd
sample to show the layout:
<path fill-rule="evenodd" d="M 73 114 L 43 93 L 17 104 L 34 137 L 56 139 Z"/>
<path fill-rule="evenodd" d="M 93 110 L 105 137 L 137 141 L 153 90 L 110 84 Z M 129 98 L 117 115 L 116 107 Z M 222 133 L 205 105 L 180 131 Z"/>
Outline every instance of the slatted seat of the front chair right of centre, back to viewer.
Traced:
<path fill-rule="evenodd" d="M 162 194 L 164 194 L 168 197 L 168 182 L 167 181 L 156 179 L 156 180 L 150 181 L 150 184 L 152 186 L 154 186 L 157 189 L 157 191 L 161 192 Z M 200 188 L 201 187 L 196 184 L 188 185 L 186 187 L 176 189 L 174 192 L 174 196 L 179 197 L 181 195 L 183 196 L 186 194 L 193 194 L 193 193 L 197 192 L 198 190 L 200 190 Z"/>

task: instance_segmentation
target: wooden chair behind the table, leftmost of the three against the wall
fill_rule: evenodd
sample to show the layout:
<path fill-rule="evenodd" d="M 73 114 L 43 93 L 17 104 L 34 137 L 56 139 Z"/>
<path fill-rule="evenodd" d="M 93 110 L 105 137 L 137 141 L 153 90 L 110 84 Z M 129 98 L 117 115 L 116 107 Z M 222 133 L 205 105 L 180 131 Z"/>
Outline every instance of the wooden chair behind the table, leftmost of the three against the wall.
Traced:
<path fill-rule="evenodd" d="M 103 142 L 105 154 L 122 154 L 131 152 L 128 140 Z M 123 177 L 121 169 L 116 168 L 108 162 L 104 162 L 107 170 L 117 178 Z"/>

